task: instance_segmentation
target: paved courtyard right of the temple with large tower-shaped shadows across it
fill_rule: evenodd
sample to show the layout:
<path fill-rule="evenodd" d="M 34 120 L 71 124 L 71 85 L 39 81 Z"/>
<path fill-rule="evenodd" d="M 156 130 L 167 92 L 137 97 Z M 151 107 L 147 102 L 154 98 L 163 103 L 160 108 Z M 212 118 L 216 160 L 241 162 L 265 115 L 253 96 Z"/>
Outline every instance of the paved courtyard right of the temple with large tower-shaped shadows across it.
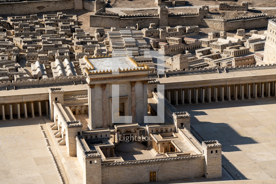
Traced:
<path fill-rule="evenodd" d="M 276 178 L 276 98 L 176 106 L 206 140 L 222 144 L 222 165 L 243 179 Z"/>

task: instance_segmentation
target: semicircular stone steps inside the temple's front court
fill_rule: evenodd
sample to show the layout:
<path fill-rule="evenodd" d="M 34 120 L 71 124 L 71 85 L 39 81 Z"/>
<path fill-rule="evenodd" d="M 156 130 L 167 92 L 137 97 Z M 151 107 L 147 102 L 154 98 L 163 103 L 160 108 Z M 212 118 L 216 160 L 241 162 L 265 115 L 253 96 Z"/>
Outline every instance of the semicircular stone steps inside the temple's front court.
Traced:
<path fill-rule="evenodd" d="M 115 146 L 115 151 L 118 152 L 134 152 L 146 149 L 146 146 L 140 142 L 121 142 Z"/>

